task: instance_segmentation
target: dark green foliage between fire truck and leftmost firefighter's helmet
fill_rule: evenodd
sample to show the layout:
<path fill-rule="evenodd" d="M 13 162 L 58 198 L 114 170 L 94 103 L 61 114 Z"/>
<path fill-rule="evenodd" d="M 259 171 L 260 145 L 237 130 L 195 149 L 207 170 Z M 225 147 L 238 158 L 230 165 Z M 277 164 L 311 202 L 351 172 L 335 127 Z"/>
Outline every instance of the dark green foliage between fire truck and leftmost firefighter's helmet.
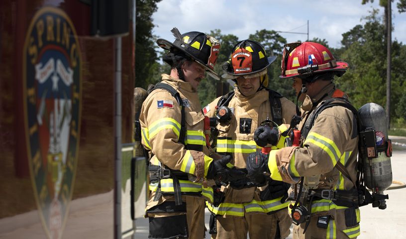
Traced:
<path fill-rule="evenodd" d="M 136 0 L 135 19 L 135 86 L 147 89 L 151 83 L 156 83 L 156 72 L 161 65 L 157 62 L 156 43 L 152 35 L 152 13 L 157 10 L 161 0 Z"/>

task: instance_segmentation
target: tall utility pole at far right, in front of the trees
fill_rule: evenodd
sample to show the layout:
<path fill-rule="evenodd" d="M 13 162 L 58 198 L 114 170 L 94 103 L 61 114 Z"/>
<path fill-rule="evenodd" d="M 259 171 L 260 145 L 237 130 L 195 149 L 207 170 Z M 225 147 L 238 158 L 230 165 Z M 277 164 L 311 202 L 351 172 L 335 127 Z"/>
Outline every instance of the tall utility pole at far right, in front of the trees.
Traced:
<path fill-rule="evenodd" d="M 391 0 L 388 0 L 388 14 L 386 19 L 386 28 L 388 31 L 387 35 L 387 62 L 388 66 L 386 69 L 386 116 L 388 129 L 391 128 L 391 65 L 392 65 L 392 9 Z"/>

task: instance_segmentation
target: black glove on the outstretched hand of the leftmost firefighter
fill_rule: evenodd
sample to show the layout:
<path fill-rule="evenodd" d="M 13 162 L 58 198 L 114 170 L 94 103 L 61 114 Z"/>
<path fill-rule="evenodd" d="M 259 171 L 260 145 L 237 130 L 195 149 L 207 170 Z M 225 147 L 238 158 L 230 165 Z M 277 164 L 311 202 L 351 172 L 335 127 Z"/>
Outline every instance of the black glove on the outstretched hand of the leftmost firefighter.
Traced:
<path fill-rule="evenodd" d="M 213 160 L 208 167 L 207 179 L 214 179 L 218 182 L 228 183 L 245 177 L 245 172 L 227 167 L 227 163 L 230 161 L 231 155 L 224 156 L 218 160 Z"/>

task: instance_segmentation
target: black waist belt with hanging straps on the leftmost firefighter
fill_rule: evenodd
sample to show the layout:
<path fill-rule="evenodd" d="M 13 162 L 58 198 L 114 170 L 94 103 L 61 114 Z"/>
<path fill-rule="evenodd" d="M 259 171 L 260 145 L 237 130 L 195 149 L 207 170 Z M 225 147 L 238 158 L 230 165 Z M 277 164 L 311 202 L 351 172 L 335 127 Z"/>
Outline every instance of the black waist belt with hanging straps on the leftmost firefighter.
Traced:
<path fill-rule="evenodd" d="M 172 170 L 169 168 L 164 168 L 159 165 L 149 165 L 148 173 L 151 182 L 158 181 L 158 187 L 155 192 L 154 201 L 158 201 L 162 197 L 161 179 L 172 178 L 174 185 L 175 204 L 177 206 L 182 205 L 182 197 L 181 197 L 182 191 L 179 179 L 188 180 L 187 173 L 182 172 L 180 170 Z"/>

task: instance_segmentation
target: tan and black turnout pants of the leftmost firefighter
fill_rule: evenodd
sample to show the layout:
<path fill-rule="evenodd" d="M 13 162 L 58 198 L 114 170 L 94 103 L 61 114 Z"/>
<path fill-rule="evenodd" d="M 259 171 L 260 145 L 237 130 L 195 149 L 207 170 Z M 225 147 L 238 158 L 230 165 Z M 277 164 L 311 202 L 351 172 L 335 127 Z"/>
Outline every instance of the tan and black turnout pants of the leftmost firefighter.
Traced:
<path fill-rule="evenodd" d="M 182 205 L 164 201 L 147 210 L 150 239 L 203 239 L 203 198 L 182 196 Z"/>

